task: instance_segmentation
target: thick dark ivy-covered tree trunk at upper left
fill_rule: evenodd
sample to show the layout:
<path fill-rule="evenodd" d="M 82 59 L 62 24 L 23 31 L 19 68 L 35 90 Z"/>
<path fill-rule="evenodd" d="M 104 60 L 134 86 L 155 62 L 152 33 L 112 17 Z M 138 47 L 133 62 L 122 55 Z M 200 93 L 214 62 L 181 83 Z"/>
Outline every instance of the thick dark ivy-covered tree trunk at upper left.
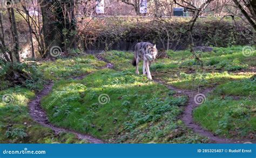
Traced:
<path fill-rule="evenodd" d="M 41 3 L 43 34 L 45 43 L 44 57 L 49 55 L 52 46 L 68 49 L 76 47 L 75 2 L 44 0 Z"/>

